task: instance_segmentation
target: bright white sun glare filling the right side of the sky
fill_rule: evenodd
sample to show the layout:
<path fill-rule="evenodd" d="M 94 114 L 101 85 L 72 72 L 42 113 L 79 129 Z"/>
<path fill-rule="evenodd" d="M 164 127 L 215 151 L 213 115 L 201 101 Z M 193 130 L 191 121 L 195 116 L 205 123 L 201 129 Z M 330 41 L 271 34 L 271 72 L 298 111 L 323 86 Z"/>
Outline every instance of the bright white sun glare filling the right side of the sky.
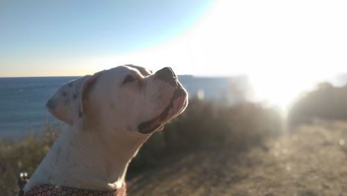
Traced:
<path fill-rule="evenodd" d="M 177 74 L 247 75 L 257 101 L 287 111 L 303 91 L 346 71 L 347 27 L 341 24 L 347 12 L 346 3 L 340 3 L 216 0 L 184 33 L 142 51 L 18 64 L 42 64 L 37 70 L 45 74 L 69 72 L 60 75 L 121 64 L 153 71 L 171 66 Z"/>

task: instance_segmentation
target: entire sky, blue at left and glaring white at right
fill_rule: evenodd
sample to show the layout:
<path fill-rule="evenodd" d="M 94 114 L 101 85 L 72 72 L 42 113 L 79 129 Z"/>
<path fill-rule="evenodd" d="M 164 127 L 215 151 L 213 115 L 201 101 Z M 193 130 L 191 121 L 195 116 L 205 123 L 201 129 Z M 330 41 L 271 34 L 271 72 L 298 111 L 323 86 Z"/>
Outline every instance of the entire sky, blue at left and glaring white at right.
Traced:
<path fill-rule="evenodd" d="M 0 1 L 0 77 L 85 75 L 121 64 L 246 75 L 287 107 L 347 73 L 347 1 Z"/>

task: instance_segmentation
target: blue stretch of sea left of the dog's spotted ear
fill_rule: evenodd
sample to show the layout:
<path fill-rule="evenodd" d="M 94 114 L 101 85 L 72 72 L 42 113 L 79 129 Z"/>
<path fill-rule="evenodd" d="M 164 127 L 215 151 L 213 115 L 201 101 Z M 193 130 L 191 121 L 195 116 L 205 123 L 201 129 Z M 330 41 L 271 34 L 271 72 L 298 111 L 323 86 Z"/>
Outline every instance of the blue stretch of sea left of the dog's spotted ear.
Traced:
<path fill-rule="evenodd" d="M 53 119 L 46 101 L 62 84 L 76 78 L 0 78 L 0 136 L 41 130 L 46 119 Z"/>

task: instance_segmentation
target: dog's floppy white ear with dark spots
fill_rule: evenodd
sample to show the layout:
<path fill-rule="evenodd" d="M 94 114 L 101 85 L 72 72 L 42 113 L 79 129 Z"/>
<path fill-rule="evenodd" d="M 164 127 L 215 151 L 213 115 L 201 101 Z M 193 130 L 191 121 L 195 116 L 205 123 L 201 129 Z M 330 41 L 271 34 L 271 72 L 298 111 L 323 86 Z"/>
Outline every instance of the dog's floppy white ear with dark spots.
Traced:
<path fill-rule="evenodd" d="M 94 75 L 85 75 L 63 85 L 48 100 L 46 108 L 54 117 L 67 123 L 78 132 L 83 127 L 85 116 L 83 103 L 86 101 L 85 98 L 90 88 L 98 80 L 102 72 Z"/>

